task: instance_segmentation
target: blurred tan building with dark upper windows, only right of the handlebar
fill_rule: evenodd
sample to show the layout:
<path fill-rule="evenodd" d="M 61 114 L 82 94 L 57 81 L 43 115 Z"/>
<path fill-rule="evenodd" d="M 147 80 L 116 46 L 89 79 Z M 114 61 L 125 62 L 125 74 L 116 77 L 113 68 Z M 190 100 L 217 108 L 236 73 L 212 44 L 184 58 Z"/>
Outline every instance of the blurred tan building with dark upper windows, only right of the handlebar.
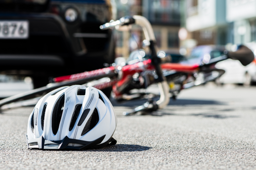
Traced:
<path fill-rule="evenodd" d="M 153 26 L 158 48 L 179 48 L 180 0 L 143 0 L 142 3 L 142 14 Z"/>

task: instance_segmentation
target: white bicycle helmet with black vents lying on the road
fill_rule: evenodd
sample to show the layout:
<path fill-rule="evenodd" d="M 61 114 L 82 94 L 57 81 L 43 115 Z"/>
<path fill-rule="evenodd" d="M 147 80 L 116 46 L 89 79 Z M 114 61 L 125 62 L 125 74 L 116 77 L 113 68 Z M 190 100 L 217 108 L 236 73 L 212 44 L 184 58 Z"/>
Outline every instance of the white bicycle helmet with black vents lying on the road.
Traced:
<path fill-rule="evenodd" d="M 115 145 L 112 104 L 94 87 L 74 85 L 46 94 L 28 119 L 28 148 L 86 149 Z"/>

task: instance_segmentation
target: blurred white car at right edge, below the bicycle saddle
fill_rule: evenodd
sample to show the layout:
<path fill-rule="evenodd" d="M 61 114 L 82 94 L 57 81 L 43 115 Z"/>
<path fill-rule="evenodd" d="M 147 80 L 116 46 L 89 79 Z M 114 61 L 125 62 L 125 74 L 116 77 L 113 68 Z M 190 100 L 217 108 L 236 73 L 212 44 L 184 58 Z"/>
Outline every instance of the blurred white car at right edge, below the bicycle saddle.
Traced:
<path fill-rule="evenodd" d="M 219 83 L 249 86 L 256 82 L 255 60 L 249 65 L 243 66 L 238 60 L 227 59 L 218 62 L 215 67 L 225 70 L 225 73 L 219 79 Z"/>

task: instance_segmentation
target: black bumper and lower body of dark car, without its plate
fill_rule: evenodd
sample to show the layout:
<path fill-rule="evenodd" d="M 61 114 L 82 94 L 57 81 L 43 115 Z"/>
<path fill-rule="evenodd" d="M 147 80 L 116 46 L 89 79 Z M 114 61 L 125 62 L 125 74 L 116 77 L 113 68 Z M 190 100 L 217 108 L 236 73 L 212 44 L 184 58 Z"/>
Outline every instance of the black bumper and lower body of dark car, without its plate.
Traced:
<path fill-rule="evenodd" d="M 73 74 L 102 68 L 107 60 L 110 32 L 104 32 L 107 36 L 98 38 L 98 45 L 94 45 L 92 37 L 74 37 L 74 34 L 67 29 L 70 26 L 55 14 L 0 13 L 0 20 L 29 21 L 28 39 L 0 39 L 0 71 L 17 69 L 43 71 L 45 66 L 56 66 L 48 69 L 55 72 L 57 67 L 65 67 L 66 70 L 70 70 L 65 74 Z M 98 25 L 95 27 L 99 28 Z M 91 48 L 84 49 L 82 42 L 86 41 L 95 47 L 95 51 L 91 51 Z M 100 42 L 104 43 L 100 44 Z M 63 70 L 60 72 L 64 74 Z"/>

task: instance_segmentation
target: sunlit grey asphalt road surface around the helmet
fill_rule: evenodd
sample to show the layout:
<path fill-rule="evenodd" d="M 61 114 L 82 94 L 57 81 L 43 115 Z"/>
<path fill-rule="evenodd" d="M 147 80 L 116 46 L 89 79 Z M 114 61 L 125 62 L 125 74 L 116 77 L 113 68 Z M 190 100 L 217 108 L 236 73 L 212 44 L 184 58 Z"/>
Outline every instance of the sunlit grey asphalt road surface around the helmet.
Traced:
<path fill-rule="evenodd" d="M 82 151 L 28 150 L 32 107 L 0 114 L 0 169 L 256 169 L 256 88 L 183 90 L 153 115 L 122 116 L 117 144 Z"/>

